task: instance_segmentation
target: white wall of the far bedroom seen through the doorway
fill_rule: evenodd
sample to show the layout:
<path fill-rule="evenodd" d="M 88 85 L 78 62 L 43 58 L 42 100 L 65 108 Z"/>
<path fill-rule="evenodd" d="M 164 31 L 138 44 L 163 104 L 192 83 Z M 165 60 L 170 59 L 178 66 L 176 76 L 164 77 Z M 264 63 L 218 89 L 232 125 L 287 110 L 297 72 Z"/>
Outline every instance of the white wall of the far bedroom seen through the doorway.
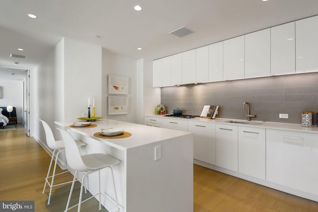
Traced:
<path fill-rule="evenodd" d="M 15 107 L 17 122 L 22 123 L 23 81 L 0 78 L 0 86 L 2 86 L 0 107 L 6 107 L 8 105 Z"/>

